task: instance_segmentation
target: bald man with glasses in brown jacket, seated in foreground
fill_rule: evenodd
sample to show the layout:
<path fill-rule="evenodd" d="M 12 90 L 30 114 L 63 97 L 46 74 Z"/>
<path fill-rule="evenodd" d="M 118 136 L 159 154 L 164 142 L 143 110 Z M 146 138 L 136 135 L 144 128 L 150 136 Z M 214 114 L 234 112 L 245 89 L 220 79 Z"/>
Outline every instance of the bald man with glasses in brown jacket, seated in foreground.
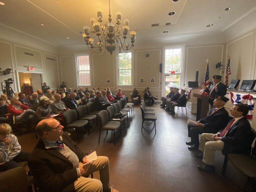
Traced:
<path fill-rule="evenodd" d="M 62 129 L 55 119 L 44 119 L 36 126 L 40 139 L 28 166 L 39 191 L 118 192 L 110 187 L 108 157 L 98 156 L 89 162 L 88 154 Z M 100 180 L 84 177 L 95 171 L 100 172 Z"/>

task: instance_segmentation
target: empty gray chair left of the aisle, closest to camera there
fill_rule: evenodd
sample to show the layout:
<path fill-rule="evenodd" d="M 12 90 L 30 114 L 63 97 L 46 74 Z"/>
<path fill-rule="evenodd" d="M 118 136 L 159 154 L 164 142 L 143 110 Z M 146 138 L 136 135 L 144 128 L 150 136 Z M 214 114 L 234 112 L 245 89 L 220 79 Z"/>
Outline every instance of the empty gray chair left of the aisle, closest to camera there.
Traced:
<path fill-rule="evenodd" d="M 109 115 L 107 110 L 102 110 L 99 112 L 99 121 L 100 121 L 100 133 L 101 130 L 106 130 L 108 135 L 108 130 L 114 132 L 114 145 L 115 145 L 115 130 L 119 128 L 121 136 L 120 122 L 109 121 Z M 100 134 L 99 134 L 99 144 L 100 144 Z"/>

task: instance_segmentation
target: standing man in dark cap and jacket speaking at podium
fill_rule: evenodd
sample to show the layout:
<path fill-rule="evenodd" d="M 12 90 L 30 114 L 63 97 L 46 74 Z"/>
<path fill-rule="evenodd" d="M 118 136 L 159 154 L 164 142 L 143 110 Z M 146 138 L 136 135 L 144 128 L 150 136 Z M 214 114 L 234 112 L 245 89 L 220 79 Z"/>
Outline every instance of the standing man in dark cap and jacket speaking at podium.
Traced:
<path fill-rule="evenodd" d="M 203 85 L 203 89 L 205 89 L 205 92 L 208 93 L 209 97 L 215 98 L 216 95 L 219 96 L 225 96 L 227 93 L 227 87 L 220 82 L 221 81 L 221 76 L 220 75 L 214 75 L 212 77 L 212 82 L 213 85 L 211 86 L 210 89 L 205 89 L 205 86 Z M 209 100 L 210 107 L 211 109 L 213 108 L 213 101 L 214 100 Z"/>

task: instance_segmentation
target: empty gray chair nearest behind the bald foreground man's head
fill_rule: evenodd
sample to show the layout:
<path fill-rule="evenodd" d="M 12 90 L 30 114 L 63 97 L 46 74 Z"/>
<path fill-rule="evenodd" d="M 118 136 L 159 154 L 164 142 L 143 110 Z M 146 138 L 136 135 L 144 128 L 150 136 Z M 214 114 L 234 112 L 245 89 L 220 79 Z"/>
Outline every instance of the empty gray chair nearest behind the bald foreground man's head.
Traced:
<path fill-rule="evenodd" d="M 63 119 L 64 119 L 65 131 L 76 129 L 77 138 L 78 138 L 78 142 L 79 142 L 78 129 L 83 129 L 84 126 L 86 126 L 88 124 L 88 121 L 87 120 L 77 120 L 77 112 L 74 109 L 65 111 L 63 113 Z"/>

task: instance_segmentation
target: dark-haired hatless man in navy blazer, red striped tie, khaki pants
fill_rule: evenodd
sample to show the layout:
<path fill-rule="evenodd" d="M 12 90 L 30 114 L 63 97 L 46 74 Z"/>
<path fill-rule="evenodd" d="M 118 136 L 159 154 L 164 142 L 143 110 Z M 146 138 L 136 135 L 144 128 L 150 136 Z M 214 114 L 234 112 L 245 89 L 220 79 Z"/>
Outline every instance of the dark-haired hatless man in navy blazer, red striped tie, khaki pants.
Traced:
<path fill-rule="evenodd" d="M 199 150 L 204 153 L 195 154 L 195 156 L 202 158 L 206 165 L 198 165 L 199 170 L 214 172 L 215 151 L 222 151 L 222 154 L 250 153 L 255 136 L 251 131 L 249 121 L 245 117 L 249 108 L 245 104 L 238 103 L 230 111 L 234 118 L 229 121 L 225 129 L 216 134 L 203 133 L 201 135 Z"/>

